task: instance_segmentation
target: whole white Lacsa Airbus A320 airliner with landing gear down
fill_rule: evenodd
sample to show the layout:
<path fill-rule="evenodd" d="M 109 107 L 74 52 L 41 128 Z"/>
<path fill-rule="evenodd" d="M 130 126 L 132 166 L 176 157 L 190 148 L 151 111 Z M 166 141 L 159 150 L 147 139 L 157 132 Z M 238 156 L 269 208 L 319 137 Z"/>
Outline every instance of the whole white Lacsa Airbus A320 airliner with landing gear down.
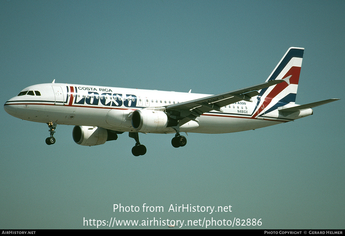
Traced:
<path fill-rule="evenodd" d="M 312 107 L 338 99 L 295 104 L 304 48 L 289 48 L 265 83 L 217 95 L 77 84 L 32 85 L 4 104 L 12 116 L 47 123 L 48 145 L 57 124 L 75 125 L 73 140 L 93 146 L 129 132 L 135 156 L 146 147 L 138 133 L 175 133 L 171 144 L 187 143 L 180 132 L 231 133 L 312 115 Z"/>

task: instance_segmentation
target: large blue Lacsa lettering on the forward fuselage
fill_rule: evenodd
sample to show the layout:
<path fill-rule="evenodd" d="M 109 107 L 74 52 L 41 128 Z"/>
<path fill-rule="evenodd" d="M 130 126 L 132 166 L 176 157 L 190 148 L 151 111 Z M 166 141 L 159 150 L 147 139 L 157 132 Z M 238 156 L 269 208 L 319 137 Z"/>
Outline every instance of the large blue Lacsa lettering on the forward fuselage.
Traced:
<path fill-rule="evenodd" d="M 89 104 L 98 105 L 99 102 L 104 106 L 126 106 L 136 107 L 137 96 L 132 94 L 119 94 L 119 93 L 102 93 L 99 95 L 96 92 L 88 92 L 88 95 L 76 96 L 74 104 Z"/>

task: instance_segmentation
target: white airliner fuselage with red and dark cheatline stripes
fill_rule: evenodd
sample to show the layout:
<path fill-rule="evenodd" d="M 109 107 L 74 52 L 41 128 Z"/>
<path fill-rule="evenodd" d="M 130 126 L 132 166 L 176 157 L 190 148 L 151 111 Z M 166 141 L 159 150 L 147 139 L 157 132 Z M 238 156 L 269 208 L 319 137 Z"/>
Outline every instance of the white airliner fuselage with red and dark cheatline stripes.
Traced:
<path fill-rule="evenodd" d="M 157 90 L 88 86 L 75 84 L 38 84 L 6 102 L 5 110 L 20 119 L 35 122 L 56 122 L 66 125 L 98 126 L 105 129 L 136 132 L 130 114 L 138 109 L 165 111 L 165 106 L 207 97 L 208 94 L 166 92 Z M 36 93 L 38 91 L 39 93 Z M 180 127 L 180 131 L 195 133 L 230 133 L 257 129 L 297 119 L 298 114 L 282 116 L 278 111 L 253 114 L 261 104 L 240 101 L 210 111 Z M 158 108 L 160 107 L 160 108 Z M 171 127 L 152 133 L 174 133 Z"/>

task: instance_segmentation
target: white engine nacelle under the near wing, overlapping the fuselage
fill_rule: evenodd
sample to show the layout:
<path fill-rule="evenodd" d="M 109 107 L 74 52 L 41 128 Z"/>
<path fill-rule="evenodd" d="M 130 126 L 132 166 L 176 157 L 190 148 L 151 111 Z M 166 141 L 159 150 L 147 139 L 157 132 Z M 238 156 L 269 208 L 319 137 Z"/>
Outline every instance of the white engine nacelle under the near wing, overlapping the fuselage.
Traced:
<path fill-rule="evenodd" d="M 132 126 L 139 132 L 157 132 L 167 127 L 177 125 L 177 120 L 171 119 L 162 111 L 136 110 L 132 113 Z"/>

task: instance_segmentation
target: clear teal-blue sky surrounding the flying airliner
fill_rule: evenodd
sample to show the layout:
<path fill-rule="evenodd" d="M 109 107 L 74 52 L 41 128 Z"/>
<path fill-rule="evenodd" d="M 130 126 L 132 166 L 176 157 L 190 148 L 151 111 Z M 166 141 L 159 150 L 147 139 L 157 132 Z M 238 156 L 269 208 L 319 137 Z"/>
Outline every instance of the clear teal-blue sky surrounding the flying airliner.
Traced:
<path fill-rule="evenodd" d="M 1 0 L 2 103 L 53 79 L 216 94 L 264 82 L 292 46 L 305 48 L 296 103 L 342 100 L 255 131 L 189 133 L 184 148 L 171 146 L 172 134 L 141 134 L 141 157 L 127 133 L 84 147 L 72 126 L 58 125 L 48 146 L 46 124 L 2 110 L 0 228 L 96 228 L 84 217 L 344 228 L 344 9 L 344 1 Z M 144 203 L 164 212 L 113 212 Z M 232 212 L 173 213 L 171 204 Z"/>

